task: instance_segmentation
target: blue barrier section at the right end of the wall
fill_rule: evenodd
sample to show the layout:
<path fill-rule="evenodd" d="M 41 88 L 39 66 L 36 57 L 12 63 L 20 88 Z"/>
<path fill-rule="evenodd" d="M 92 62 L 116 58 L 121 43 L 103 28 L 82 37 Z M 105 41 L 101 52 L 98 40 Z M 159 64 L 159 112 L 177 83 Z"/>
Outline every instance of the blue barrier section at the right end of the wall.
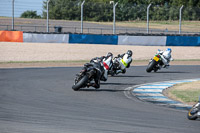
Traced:
<path fill-rule="evenodd" d="M 200 46 L 200 37 L 167 36 L 166 46 Z"/>

